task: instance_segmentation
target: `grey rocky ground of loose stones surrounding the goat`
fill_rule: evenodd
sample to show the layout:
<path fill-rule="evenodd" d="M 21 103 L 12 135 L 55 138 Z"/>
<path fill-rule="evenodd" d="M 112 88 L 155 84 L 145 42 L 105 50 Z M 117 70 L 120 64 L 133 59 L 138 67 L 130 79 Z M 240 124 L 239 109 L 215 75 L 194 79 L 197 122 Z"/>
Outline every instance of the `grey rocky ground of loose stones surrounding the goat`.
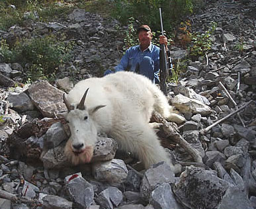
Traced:
<path fill-rule="evenodd" d="M 255 0 L 212 0 L 191 17 L 195 31 L 207 30 L 211 21 L 218 26 L 207 56 L 189 61 L 179 85 L 169 83 L 170 103 L 186 122 L 177 134 L 174 124 L 153 118 L 163 124 L 163 146 L 182 166 L 177 175 L 166 163 L 141 170 L 104 134 L 90 165 L 72 167 L 65 159 L 68 129 L 56 118 L 65 110 L 62 95 L 73 87 L 69 77 L 101 76 L 118 63 L 118 22 L 75 10 L 67 20 L 0 31 L 9 43 L 15 36 L 65 32 L 78 44 L 54 86 L 15 87 L 26 69 L 0 63 L 0 208 L 256 208 L 255 8 Z M 182 48 L 171 50 L 174 63 L 187 59 Z"/>

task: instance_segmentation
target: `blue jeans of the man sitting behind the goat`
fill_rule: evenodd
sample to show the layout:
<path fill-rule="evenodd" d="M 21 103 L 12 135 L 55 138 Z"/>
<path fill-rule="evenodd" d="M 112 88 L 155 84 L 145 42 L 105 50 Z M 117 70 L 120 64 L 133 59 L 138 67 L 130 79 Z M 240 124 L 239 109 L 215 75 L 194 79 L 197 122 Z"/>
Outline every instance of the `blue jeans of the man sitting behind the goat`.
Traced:
<path fill-rule="evenodd" d="M 104 72 L 104 75 L 108 75 L 110 73 L 114 73 L 110 69 L 107 69 Z M 159 83 L 159 77 L 157 73 L 154 73 L 154 62 L 148 56 L 145 56 L 138 65 L 138 73 L 148 77 L 153 83 Z"/>

